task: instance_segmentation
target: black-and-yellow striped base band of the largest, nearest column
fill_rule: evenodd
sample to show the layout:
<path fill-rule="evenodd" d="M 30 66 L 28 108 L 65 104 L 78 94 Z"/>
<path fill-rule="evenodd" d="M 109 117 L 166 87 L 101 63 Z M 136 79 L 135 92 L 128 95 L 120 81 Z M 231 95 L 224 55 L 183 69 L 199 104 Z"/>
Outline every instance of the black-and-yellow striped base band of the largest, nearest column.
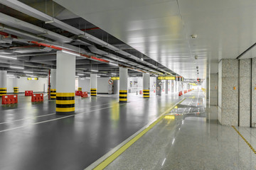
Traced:
<path fill-rule="evenodd" d="M 75 113 L 75 93 L 56 93 L 56 114 Z"/>

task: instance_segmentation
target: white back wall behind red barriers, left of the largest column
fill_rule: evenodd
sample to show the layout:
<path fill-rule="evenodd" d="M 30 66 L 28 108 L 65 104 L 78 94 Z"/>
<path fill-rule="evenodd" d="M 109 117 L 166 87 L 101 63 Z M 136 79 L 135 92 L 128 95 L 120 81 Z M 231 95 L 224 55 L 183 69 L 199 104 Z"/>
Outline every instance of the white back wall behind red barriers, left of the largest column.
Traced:
<path fill-rule="evenodd" d="M 7 93 L 14 92 L 14 79 L 16 78 L 9 78 L 7 77 Z M 45 86 L 43 86 L 45 84 Z M 18 90 L 19 92 L 25 91 L 34 91 L 34 92 L 43 92 L 46 87 L 47 91 L 48 86 L 48 79 L 47 78 L 38 78 L 38 80 L 27 80 L 27 77 L 21 77 L 18 79 Z"/>

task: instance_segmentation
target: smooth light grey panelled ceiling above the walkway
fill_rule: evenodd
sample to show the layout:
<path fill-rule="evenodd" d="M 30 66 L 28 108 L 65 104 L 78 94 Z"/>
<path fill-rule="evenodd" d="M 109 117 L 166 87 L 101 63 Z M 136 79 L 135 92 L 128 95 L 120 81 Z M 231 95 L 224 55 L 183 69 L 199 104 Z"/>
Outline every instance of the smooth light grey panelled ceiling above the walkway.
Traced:
<path fill-rule="evenodd" d="M 255 0 L 54 1 L 185 78 L 218 72 L 256 42 Z"/>

